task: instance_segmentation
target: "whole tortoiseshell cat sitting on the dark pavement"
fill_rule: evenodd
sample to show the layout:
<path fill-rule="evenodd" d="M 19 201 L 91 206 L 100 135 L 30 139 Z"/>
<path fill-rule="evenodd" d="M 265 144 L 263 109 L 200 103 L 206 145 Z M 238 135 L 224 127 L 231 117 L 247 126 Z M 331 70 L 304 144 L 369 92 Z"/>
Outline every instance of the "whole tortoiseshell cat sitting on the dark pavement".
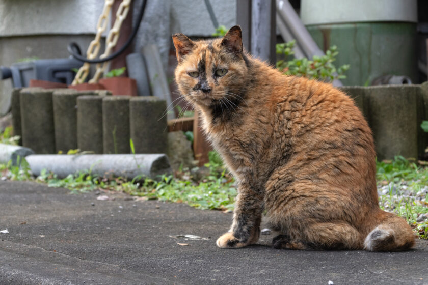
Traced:
<path fill-rule="evenodd" d="M 286 76 L 243 50 L 242 31 L 172 36 L 175 80 L 236 179 L 220 248 L 255 244 L 263 211 L 274 248 L 405 250 L 407 222 L 379 208 L 373 137 L 353 100 L 331 84 Z"/>

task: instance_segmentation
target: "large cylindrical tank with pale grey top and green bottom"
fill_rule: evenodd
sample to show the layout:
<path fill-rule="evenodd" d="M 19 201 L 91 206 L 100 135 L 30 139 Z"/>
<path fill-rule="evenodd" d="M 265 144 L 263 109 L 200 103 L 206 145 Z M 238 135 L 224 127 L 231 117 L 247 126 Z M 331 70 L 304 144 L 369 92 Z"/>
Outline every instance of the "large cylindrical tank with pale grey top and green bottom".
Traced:
<path fill-rule="evenodd" d="M 416 83 L 416 0 L 302 0 L 301 19 L 320 49 L 339 48 L 336 66 L 350 64 L 344 85 L 383 75 Z"/>

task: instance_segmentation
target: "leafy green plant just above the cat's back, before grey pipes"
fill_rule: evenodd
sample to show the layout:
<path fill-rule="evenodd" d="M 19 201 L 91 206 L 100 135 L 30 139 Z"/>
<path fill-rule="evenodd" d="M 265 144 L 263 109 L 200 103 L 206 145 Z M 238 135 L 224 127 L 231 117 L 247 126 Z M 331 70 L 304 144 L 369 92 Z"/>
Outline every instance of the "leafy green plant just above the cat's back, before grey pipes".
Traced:
<path fill-rule="evenodd" d="M 349 69 L 349 65 L 345 64 L 336 68 L 333 62 L 339 54 L 337 46 L 330 47 L 323 56 L 314 55 L 312 60 L 307 58 L 288 60 L 290 55 L 293 55 L 293 47 L 296 40 L 287 43 L 276 45 L 276 52 L 283 59 L 277 61 L 276 67 L 284 74 L 307 77 L 310 79 L 320 79 L 323 81 L 333 81 L 334 79 L 344 79 L 345 71 Z"/>

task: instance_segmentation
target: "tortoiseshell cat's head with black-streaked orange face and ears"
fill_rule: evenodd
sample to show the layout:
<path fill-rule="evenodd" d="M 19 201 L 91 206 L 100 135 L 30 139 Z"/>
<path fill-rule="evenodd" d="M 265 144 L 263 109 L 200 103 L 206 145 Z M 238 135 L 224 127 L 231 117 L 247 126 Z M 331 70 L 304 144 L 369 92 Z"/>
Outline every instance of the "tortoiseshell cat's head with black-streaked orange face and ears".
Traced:
<path fill-rule="evenodd" d="M 178 66 L 175 80 L 183 96 L 201 106 L 242 100 L 248 60 L 242 31 L 233 26 L 223 38 L 192 41 L 183 34 L 172 36 Z"/>

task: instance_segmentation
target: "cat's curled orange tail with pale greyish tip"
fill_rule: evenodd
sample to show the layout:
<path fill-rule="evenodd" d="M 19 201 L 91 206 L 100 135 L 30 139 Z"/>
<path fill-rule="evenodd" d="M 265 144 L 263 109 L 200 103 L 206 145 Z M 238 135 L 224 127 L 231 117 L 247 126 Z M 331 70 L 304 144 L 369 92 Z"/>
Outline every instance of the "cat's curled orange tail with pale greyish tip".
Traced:
<path fill-rule="evenodd" d="M 379 209 L 379 224 L 364 240 L 364 249 L 370 251 L 398 251 L 410 249 L 415 244 L 415 235 L 402 218 Z"/>

